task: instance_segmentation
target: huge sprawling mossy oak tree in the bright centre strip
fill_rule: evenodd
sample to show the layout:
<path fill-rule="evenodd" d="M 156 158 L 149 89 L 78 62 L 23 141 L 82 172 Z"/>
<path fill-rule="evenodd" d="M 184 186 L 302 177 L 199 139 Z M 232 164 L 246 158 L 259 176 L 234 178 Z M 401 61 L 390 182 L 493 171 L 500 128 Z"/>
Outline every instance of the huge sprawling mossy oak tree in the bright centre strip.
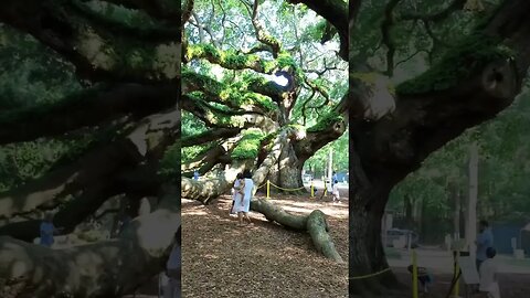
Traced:
<path fill-rule="evenodd" d="M 215 23 L 218 19 L 224 22 L 231 15 L 242 18 L 226 14 L 234 10 L 234 7 L 229 8 L 234 3 L 212 2 L 210 19 L 201 20 L 200 11 L 193 10 L 199 2 L 188 1 L 183 11 L 189 30 L 184 30 L 182 41 L 182 109 L 183 124 L 190 121 L 192 128 L 190 131 L 183 129 L 181 145 L 184 149 L 199 147 L 200 150 L 191 158 L 183 157 L 182 198 L 208 204 L 229 191 L 236 174 L 244 169 L 252 170 L 257 185 L 268 179 L 280 188 L 304 187 L 301 170 L 305 161 L 347 130 L 346 94 L 331 98 L 326 87 L 308 77 L 301 66 L 304 63 L 294 57 L 296 50 L 287 49 L 267 31 L 271 28 L 263 25 L 261 1 L 234 1 L 241 6 L 237 9 L 252 28 L 245 34 L 254 34 L 257 41 L 251 50 L 244 50 L 244 46 L 233 49 L 230 36 L 213 33 L 221 28 L 227 30 Z M 210 7 L 210 3 L 205 6 Z M 346 28 L 347 7 L 341 7 L 340 17 Z M 215 12 L 225 14 L 214 19 Z M 244 24 L 241 28 L 245 28 Z M 346 49 L 341 47 L 341 53 L 346 56 Z M 337 55 L 333 53 L 333 56 Z M 198 65 L 215 65 L 227 71 L 226 76 L 231 78 L 218 81 Z M 283 75 L 287 84 L 276 84 L 266 78 L 267 75 Z M 303 88 L 312 96 L 303 96 Z M 322 98 L 324 103 L 317 100 Z M 295 114 L 300 113 L 305 121 L 311 109 L 322 113 L 314 126 L 306 128 Z M 203 126 L 203 129 L 197 129 L 197 126 Z M 193 180 L 195 171 L 203 178 Z M 317 210 L 307 216 L 297 216 L 264 200 L 253 200 L 251 210 L 284 226 L 308 231 L 319 252 L 342 262 L 327 234 L 322 212 Z"/>

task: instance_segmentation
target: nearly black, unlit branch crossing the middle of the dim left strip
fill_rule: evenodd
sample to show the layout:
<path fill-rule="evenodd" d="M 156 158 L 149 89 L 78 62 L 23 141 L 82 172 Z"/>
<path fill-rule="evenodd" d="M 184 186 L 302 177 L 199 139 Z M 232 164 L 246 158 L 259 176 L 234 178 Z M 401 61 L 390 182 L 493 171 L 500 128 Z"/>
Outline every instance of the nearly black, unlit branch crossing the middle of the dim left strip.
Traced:
<path fill-rule="evenodd" d="M 177 87 L 121 84 L 71 95 L 57 104 L 0 113 L 0 145 L 53 137 L 127 115 L 145 117 L 174 106 Z"/>

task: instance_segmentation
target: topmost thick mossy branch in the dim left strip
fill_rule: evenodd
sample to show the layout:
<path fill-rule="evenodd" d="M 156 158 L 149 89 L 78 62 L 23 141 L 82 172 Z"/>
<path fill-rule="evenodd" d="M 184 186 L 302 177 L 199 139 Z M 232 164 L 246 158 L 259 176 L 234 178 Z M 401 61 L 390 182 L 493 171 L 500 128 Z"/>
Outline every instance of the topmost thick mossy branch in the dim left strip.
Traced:
<path fill-rule="evenodd" d="M 76 66 L 77 75 L 89 81 L 172 81 L 180 67 L 178 30 L 138 35 L 112 32 L 94 21 L 73 2 L 45 0 L 4 3 L 0 21 L 30 33 Z M 138 34 L 138 33 L 137 33 Z"/>

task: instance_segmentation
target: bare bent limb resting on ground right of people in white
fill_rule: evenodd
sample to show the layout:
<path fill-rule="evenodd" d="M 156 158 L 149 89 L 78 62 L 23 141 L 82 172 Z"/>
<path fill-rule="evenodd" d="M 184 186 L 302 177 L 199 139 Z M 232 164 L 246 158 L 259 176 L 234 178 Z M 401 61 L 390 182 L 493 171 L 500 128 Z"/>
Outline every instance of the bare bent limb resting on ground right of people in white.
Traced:
<path fill-rule="evenodd" d="M 315 248 L 319 253 L 338 263 L 343 263 L 328 234 L 326 215 L 320 210 L 315 210 L 309 215 L 294 215 L 263 199 L 252 200 L 251 210 L 262 213 L 268 221 L 276 222 L 288 228 L 307 231 L 311 236 Z"/>

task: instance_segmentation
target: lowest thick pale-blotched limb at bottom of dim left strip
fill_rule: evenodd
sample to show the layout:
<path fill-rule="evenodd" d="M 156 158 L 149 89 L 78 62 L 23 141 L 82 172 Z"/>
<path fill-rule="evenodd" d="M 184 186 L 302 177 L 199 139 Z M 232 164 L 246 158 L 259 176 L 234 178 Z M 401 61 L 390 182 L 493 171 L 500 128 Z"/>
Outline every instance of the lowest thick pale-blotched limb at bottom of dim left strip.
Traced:
<path fill-rule="evenodd" d="M 50 249 L 0 237 L 0 295 L 110 298 L 131 292 L 163 270 L 180 226 L 177 194 L 167 193 L 157 211 L 134 220 L 117 240 Z"/>

